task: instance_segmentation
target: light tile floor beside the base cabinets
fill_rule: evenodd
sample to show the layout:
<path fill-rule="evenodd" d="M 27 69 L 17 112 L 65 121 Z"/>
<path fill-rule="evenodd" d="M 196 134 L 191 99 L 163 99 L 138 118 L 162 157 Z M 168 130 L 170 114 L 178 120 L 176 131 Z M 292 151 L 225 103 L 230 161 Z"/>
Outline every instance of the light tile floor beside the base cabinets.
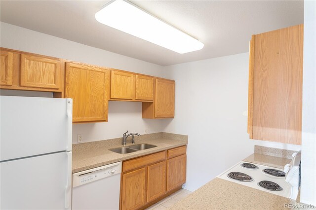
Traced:
<path fill-rule="evenodd" d="M 166 210 L 167 208 L 171 207 L 177 201 L 187 197 L 190 193 L 189 190 L 180 189 L 177 192 L 169 195 L 165 199 L 158 201 L 158 203 L 154 204 L 153 206 L 148 207 L 146 210 Z"/>

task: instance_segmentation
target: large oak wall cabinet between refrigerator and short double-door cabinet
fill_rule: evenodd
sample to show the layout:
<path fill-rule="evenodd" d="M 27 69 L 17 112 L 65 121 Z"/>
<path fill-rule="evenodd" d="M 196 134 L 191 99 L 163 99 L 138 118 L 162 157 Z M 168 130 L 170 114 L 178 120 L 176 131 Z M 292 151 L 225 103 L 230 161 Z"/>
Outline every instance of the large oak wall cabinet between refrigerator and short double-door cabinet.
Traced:
<path fill-rule="evenodd" d="M 107 120 L 108 72 L 103 68 L 66 63 L 65 96 L 73 98 L 74 122 Z"/>

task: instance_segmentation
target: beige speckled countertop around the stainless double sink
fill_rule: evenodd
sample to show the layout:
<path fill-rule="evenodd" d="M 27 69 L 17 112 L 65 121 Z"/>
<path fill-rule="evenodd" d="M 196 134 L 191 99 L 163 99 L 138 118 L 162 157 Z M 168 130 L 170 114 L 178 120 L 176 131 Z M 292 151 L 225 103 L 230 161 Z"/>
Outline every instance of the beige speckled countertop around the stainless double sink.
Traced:
<path fill-rule="evenodd" d="M 146 137 L 146 135 L 144 136 Z M 172 137 L 172 135 L 156 135 L 155 138 L 135 138 L 135 145 L 146 143 L 156 145 L 157 147 L 148 150 L 135 151 L 127 154 L 119 154 L 109 150 L 112 148 L 122 147 L 121 140 L 118 141 L 118 139 L 116 139 L 115 141 L 105 140 L 100 142 L 85 143 L 85 145 L 73 145 L 72 173 L 77 173 L 87 169 L 96 168 L 99 166 L 188 144 L 187 136 L 186 138 L 181 140 L 179 140 L 179 138 L 172 139 L 170 138 L 170 136 Z M 132 144 L 127 144 L 126 147 L 131 145 Z"/>

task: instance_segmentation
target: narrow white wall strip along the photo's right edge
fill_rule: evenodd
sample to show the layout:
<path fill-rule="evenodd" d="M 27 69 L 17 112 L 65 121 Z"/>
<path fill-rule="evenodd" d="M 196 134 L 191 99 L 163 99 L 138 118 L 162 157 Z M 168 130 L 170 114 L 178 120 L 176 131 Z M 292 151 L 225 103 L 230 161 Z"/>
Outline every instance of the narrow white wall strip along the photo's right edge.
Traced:
<path fill-rule="evenodd" d="M 304 1 L 301 202 L 316 206 L 316 1 Z"/>

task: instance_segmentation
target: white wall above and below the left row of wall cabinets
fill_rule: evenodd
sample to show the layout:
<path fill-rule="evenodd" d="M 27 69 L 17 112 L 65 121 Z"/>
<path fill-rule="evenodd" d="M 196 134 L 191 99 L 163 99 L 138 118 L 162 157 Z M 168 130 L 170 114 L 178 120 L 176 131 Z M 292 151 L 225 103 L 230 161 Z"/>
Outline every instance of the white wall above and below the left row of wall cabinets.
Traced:
<path fill-rule="evenodd" d="M 164 77 L 163 68 L 153 63 L 10 24 L 0 24 L 0 43 L 4 48 Z M 111 101 L 108 122 L 73 125 L 73 143 L 77 142 L 78 134 L 83 134 L 83 141 L 88 142 L 118 138 L 126 130 L 140 134 L 144 133 L 145 128 L 149 129 L 148 133 L 163 131 L 169 120 L 142 119 L 141 109 L 141 102 Z"/>

